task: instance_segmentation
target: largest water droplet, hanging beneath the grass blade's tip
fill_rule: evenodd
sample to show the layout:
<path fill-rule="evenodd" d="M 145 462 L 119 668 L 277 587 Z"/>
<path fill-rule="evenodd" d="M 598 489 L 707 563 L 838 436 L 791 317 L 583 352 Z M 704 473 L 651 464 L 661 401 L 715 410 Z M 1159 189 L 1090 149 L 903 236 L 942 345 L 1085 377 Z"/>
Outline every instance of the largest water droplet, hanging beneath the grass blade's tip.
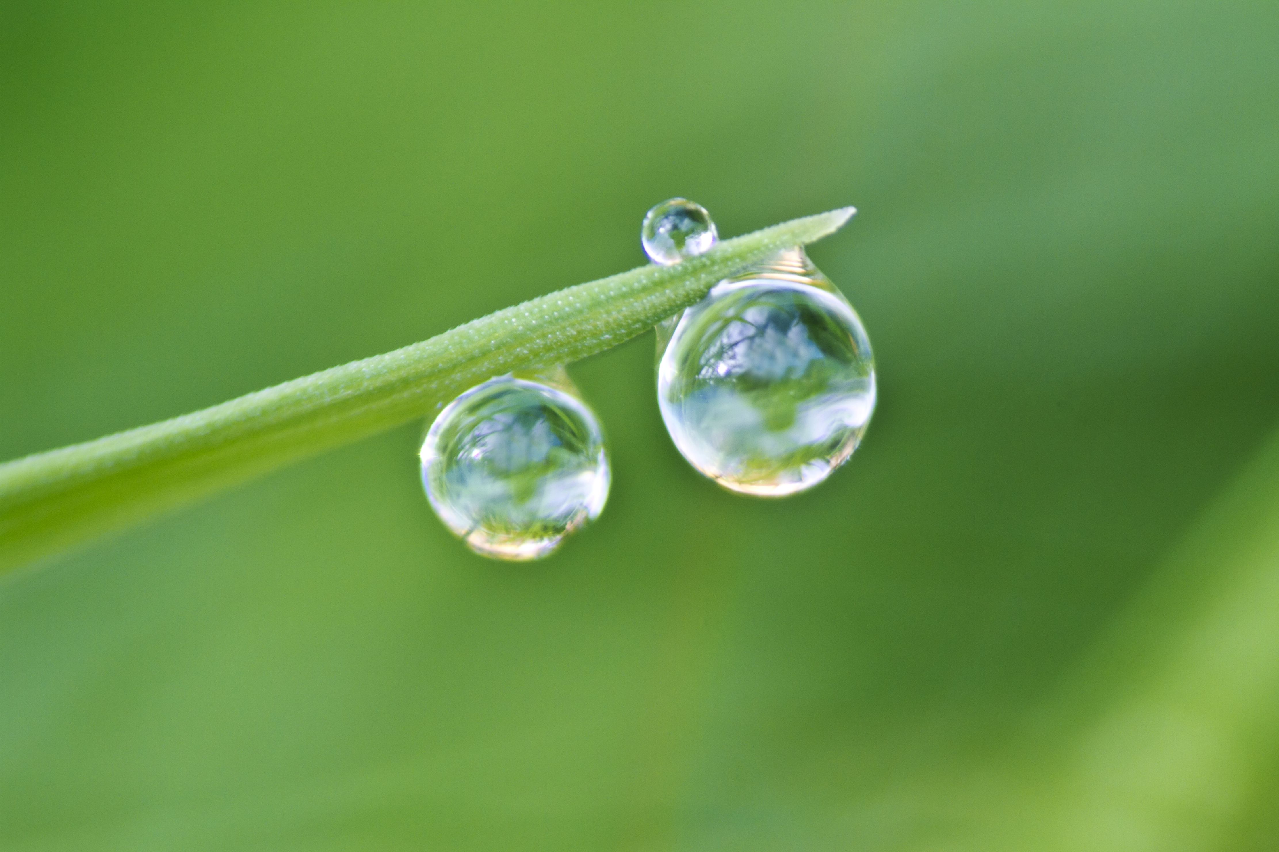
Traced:
<path fill-rule="evenodd" d="M 870 340 L 802 250 L 715 285 L 665 330 L 661 418 L 684 459 L 720 485 L 793 494 L 857 448 L 875 410 Z"/>

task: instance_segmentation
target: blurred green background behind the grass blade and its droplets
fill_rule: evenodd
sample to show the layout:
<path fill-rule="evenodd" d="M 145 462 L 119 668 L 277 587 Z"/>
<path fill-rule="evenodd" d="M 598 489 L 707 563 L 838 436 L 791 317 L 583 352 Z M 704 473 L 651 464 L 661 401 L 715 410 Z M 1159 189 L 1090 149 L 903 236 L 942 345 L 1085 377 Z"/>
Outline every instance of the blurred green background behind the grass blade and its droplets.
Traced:
<path fill-rule="evenodd" d="M 572 372 L 604 516 L 421 424 L 0 581 L 4 849 L 1273 849 L 1279 6 L 0 5 L 0 459 L 856 204 L 881 397 L 783 502 Z"/>

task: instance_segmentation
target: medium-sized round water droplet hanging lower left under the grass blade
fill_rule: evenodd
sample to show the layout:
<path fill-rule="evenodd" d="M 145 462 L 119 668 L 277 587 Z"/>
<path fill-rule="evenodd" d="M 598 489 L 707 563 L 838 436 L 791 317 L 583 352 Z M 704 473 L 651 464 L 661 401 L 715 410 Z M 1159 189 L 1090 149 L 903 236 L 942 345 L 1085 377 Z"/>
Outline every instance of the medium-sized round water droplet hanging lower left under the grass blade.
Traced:
<path fill-rule="evenodd" d="M 490 379 L 440 411 L 426 434 L 427 499 L 481 556 L 549 556 L 604 508 L 610 473 L 600 423 L 567 376 L 555 384 Z"/>

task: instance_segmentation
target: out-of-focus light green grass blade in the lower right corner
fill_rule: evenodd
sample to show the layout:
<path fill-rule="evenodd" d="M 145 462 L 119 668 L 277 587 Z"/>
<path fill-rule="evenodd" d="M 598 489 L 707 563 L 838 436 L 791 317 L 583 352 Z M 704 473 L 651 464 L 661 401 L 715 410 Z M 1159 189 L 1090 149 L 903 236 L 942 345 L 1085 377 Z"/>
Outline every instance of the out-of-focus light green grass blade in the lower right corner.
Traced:
<path fill-rule="evenodd" d="M 1212 849 L 1279 757 L 1279 433 L 1054 703 L 1096 696 L 1018 848 Z M 1033 812 L 1027 809 L 1026 812 Z M 989 848 L 989 847 L 987 847 Z"/>

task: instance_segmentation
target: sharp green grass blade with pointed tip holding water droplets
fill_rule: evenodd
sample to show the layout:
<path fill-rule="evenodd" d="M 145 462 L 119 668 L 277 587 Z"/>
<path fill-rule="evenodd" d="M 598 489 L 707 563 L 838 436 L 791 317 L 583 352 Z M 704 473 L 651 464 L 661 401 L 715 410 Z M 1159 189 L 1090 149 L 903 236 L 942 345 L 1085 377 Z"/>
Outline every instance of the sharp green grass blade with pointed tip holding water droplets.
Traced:
<path fill-rule="evenodd" d="M 385 355 L 3 464 L 0 572 L 423 416 L 492 376 L 604 351 L 743 264 L 831 234 L 852 215 L 774 225 L 673 267 L 567 287 Z"/>

